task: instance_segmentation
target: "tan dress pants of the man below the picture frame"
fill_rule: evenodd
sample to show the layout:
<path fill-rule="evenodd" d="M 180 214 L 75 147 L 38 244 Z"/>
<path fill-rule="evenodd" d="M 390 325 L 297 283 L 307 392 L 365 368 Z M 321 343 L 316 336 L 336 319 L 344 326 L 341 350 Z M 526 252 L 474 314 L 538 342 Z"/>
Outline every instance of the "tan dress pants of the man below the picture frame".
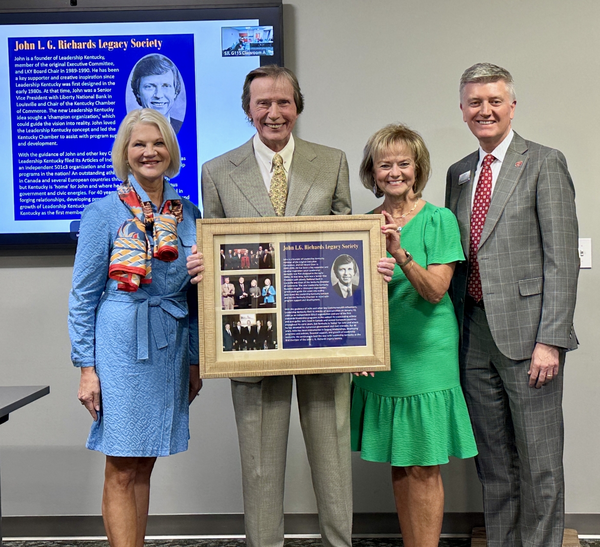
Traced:
<path fill-rule="evenodd" d="M 231 386 L 247 545 L 281 547 L 292 376 L 232 380 Z M 350 376 L 298 375 L 296 392 L 323 545 L 351 547 Z"/>

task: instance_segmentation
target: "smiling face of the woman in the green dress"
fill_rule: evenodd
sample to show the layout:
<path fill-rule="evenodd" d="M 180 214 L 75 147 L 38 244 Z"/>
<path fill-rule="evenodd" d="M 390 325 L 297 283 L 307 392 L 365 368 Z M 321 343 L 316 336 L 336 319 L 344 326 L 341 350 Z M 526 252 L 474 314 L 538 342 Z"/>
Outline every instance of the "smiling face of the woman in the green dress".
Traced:
<path fill-rule="evenodd" d="M 415 159 L 410 150 L 395 145 L 373 162 L 373 178 L 390 198 L 406 199 L 415 186 Z"/>

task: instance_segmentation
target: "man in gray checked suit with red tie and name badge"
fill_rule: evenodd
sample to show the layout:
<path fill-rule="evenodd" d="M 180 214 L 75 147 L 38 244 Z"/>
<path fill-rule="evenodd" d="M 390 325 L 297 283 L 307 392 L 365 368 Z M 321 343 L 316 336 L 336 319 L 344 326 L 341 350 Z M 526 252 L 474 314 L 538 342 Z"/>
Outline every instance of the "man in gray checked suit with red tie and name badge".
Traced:
<path fill-rule="evenodd" d="M 468 68 L 460 98 L 479 150 L 448 170 L 446 207 L 469 258 L 451 294 L 488 546 L 560 547 L 562 367 L 577 348 L 575 191 L 563 154 L 512 130 L 508 71 Z"/>

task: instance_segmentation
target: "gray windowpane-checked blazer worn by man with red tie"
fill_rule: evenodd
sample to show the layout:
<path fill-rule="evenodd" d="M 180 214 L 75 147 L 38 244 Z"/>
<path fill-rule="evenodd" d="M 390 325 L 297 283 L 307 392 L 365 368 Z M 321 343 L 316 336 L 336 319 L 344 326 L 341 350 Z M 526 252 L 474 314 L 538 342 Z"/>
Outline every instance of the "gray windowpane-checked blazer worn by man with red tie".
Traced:
<path fill-rule="evenodd" d="M 469 256 L 476 151 L 448 169 L 446 207 L 457 217 Z M 461 177 L 462 175 L 462 177 Z M 477 252 L 485 315 L 494 342 L 514 360 L 536 342 L 577 348 L 573 312 L 579 274 L 575 190 L 558 150 L 514 134 L 491 196 Z M 457 264 L 451 296 L 461 337 L 467 262 Z"/>

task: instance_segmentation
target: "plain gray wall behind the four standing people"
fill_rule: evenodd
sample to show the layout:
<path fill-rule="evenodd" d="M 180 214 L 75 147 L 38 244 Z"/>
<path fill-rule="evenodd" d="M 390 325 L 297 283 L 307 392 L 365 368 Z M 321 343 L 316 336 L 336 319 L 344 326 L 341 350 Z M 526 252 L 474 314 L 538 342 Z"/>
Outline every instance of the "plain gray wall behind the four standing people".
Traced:
<path fill-rule="evenodd" d="M 298 135 L 346 151 L 355 213 L 377 200 L 359 185 L 368 136 L 391 121 L 421 131 L 433 177 L 425 199 L 443 204 L 446 169 L 476 149 L 458 110 L 464 68 L 491 61 L 517 83 L 515 129 L 565 153 L 581 237 L 598 233 L 594 174 L 600 138 L 600 5 L 593 1 L 296 0 L 284 7 L 286 64 L 306 97 Z M 597 168 L 596 168 L 597 169 Z M 90 418 L 76 399 L 67 294 L 72 258 L 0 258 L 0 384 L 50 384 L 49 396 L 0 426 L 5 515 L 100 513 L 103 456 L 83 446 Z M 583 270 L 575 315 L 581 348 L 565 370 L 566 510 L 600 512 L 600 318 L 596 270 Z M 596 344 L 596 345 L 595 345 Z M 161 459 L 152 513 L 242 512 L 239 453 L 228 380 L 210 380 L 191 406 L 187 453 Z M 286 512 L 315 512 L 310 471 L 293 416 Z M 394 510 L 389 468 L 355 458 L 355 510 Z M 472 461 L 443 470 L 446 510 L 481 510 Z M 600 530 L 598 530 L 600 532 Z"/>

